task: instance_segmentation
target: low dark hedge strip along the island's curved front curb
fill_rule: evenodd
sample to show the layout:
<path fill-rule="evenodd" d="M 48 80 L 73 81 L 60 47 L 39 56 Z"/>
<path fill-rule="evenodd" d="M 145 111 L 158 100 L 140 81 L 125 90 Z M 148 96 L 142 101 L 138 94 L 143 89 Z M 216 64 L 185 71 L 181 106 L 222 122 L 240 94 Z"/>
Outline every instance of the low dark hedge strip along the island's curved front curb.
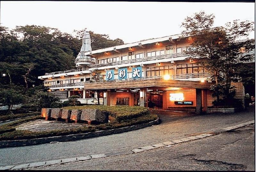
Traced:
<path fill-rule="evenodd" d="M 36 119 L 40 119 L 40 118 L 37 117 Z M 156 119 L 157 119 L 156 114 L 147 114 L 144 116 L 134 118 L 130 121 L 124 120 L 121 122 L 117 122 L 115 120 L 114 121 L 111 120 L 109 123 L 106 123 L 106 124 L 100 124 L 100 125 L 96 125 L 96 126 L 84 126 L 84 127 L 74 128 L 74 129 L 65 129 L 65 130 L 58 129 L 58 130 L 52 130 L 52 131 L 48 131 L 48 132 L 47 131 L 35 132 L 35 131 L 26 131 L 26 130 L 16 130 L 16 131 L 1 134 L 0 140 L 32 139 L 32 138 L 42 138 L 42 137 L 52 137 L 52 136 L 64 136 L 64 135 L 69 135 L 69 134 L 88 133 L 88 132 L 94 132 L 97 130 L 115 129 L 115 128 L 132 126 L 132 125 L 141 124 L 144 122 L 154 121 Z M 10 123 L 9 127 L 18 125 L 17 121 L 15 121 L 15 122 L 13 122 L 14 124 Z"/>

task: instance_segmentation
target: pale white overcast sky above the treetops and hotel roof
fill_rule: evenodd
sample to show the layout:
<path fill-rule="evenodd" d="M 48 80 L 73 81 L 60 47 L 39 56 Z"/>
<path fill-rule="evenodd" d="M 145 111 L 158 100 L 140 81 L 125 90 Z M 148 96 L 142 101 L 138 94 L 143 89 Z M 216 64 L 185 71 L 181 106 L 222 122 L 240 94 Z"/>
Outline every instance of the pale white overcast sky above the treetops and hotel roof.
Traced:
<path fill-rule="evenodd" d="M 255 3 L 218 2 L 90 2 L 90 1 L 1 1 L 1 26 L 39 25 L 73 30 L 87 28 L 124 43 L 176 35 L 180 25 L 195 12 L 215 15 L 214 27 L 232 20 L 255 21 Z M 252 32 L 250 38 L 254 38 Z"/>

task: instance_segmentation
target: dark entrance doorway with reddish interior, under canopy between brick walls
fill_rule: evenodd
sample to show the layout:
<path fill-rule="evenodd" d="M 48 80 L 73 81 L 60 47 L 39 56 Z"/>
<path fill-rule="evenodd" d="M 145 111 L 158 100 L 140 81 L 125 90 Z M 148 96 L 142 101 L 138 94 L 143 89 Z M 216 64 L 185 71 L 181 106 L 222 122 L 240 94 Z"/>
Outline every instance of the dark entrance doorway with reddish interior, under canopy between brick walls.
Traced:
<path fill-rule="evenodd" d="M 147 101 L 149 108 L 163 108 L 163 91 L 147 91 Z"/>

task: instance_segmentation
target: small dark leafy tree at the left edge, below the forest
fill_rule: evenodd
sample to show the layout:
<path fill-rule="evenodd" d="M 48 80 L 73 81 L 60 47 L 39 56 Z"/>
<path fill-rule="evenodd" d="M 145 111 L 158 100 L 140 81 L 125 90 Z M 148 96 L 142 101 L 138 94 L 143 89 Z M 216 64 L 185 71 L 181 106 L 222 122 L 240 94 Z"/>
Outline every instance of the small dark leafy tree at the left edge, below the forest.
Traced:
<path fill-rule="evenodd" d="M 13 105 L 18 105 L 25 101 L 25 96 L 20 92 L 19 86 L 7 86 L 0 89 L 0 105 L 8 106 L 8 114 L 12 113 Z"/>

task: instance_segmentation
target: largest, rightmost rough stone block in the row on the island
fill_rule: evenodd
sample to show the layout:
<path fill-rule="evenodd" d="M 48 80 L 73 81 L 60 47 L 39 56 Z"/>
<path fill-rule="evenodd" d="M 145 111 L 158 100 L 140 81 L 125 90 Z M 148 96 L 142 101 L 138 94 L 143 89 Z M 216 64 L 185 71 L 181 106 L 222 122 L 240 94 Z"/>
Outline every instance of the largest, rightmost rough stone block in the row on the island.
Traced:
<path fill-rule="evenodd" d="M 83 109 L 81 120 L 108 123 L 108 112 L 99 109 Z"/>

